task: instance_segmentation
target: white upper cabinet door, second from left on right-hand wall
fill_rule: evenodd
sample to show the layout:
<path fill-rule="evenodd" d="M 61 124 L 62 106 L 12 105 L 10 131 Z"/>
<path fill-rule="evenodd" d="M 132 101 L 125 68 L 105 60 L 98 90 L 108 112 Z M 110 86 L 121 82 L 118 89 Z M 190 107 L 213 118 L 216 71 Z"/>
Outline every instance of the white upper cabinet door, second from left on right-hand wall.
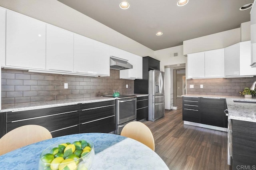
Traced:
<path fill-rule="evenodd" d="M 225 76 L 225 51 L 215 49 L 204 53 L 205 77 Z"/>

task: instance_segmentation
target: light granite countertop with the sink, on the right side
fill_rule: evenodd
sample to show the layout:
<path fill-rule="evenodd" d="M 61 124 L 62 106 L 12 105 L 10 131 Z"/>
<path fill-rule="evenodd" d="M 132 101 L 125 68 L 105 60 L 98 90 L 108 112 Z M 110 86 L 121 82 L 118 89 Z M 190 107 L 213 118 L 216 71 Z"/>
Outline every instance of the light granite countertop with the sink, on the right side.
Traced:
<path fill-rule="evenodd" d="M 226 99 L 228 114 L 230 119 L 256 122 L 256 97 L 245 98 L 235 96 L 211 96 L 211 95 L 182 95 L 184 97 L 203 97 L 209 99 Z M 255 103 L 239 103 L 242 102 L 255 102 Z"/>

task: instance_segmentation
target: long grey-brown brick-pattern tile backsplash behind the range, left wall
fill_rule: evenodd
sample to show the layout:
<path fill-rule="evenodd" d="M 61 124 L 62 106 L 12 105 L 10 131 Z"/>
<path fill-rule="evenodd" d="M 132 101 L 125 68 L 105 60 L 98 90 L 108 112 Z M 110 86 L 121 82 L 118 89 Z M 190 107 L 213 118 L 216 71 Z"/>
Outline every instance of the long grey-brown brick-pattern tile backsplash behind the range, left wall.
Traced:
<path fill-rule="evenodd" d="M 134 93 L 134 81 L 119 79 L 119 71 L 110 69 L 109 77 L 87 77 L 32 73 L 2 69 L 2 104 L 16 104 L 58 99 L 75 99 L 113 94 Z M 64 89 L 68 83 L 68 89 Z M 126 88 L 128 84 L 128 88 Z"/>

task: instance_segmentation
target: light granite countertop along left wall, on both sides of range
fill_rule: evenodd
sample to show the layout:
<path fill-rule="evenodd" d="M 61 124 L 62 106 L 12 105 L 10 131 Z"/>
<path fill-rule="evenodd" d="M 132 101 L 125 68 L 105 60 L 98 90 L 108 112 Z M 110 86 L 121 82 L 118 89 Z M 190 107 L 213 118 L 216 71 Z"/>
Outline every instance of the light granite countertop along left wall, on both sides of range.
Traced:
<path fill-rule="evenodd" d="M 148 94 L 129 94 L 136 95 L 137 97 L 148 96 Z M 16 103 L 14 104 L 3 104 L 2 110 L 0 112 L 10 112 L 10 111 L 22 111 L 22 110 L 32 110 L 32 109 L 42 109 L 48 107 L 58 107 L 66 105 L 76 105 L 79 103 L 92 103 L 100 101 L 110 101 L 116 98 L 111 97 L 86 97 L 79 99 L 65 99 L 65 100 L 54 100 L 54 101 L 40 101 L 40 102 L 27 102 L 27 103 Z"/>

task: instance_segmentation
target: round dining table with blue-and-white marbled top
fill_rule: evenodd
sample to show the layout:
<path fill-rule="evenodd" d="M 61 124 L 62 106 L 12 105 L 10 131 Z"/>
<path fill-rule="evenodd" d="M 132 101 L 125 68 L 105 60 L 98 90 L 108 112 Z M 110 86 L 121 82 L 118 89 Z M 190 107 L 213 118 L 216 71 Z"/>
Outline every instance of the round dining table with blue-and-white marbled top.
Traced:
<path fill-rule="evenodd" d="M 1 170 L 37 170 L 40 154 L 63 140 L 80 138 L 94 143 L 91 170 L 168 170 L 164 161 L 148 146 L 124 136 L 108 133 L 80 133 L 43 140 L 0 156 Z M 17 139 L 18 142 L 18 139 Z"/>

